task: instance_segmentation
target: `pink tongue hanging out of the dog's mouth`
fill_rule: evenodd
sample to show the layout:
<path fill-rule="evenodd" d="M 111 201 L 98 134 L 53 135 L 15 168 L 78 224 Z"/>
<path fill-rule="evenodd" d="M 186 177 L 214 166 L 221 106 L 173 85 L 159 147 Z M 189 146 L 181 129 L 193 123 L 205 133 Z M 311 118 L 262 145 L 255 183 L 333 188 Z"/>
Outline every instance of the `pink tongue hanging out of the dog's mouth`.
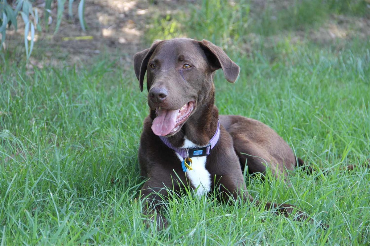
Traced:
<path fill-rule="evenodd" d="M 179 110 L 157 110 L 158 116 L 154 118 L 152 131 L 155 135 L 166 136 L 176 126 L 176 119 Z"/>

